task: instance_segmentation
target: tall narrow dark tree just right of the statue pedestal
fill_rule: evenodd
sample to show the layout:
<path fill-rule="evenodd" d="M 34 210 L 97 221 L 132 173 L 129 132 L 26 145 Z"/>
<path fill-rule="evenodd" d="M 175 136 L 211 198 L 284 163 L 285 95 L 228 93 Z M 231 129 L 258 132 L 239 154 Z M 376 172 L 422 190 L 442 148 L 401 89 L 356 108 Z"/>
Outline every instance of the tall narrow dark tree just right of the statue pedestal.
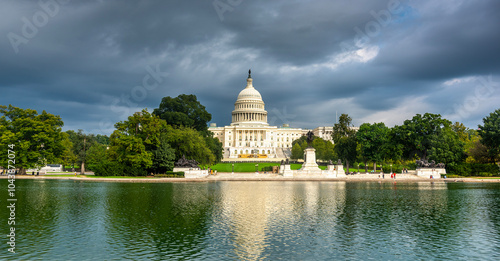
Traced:
<path fill-rule="evenodd" d="M 354 162 L 357 157 L 356 135 L 349 115 L 340 115 L 339 122 L 333 125 L 332 139 L 335 143 L 335 153 L 346 162 L 346 169 L 349 171 L 349 163 Z"/>

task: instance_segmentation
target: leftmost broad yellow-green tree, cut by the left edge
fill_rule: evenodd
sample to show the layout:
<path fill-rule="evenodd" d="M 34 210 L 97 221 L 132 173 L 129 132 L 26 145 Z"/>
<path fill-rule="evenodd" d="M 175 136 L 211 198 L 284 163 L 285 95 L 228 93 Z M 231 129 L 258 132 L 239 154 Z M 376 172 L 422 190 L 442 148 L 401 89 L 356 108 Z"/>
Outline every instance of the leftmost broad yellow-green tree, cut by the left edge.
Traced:
<path fill-rule="evenodd" d="M 54 163 L 63 153 L 61 117 L 42 111 L 0 105 L 0 165 L 8 166 L 7 150 L 14 145 L 15 166 L 21 174 L 28 168 Z M 12 164 L 11 164 L 12 165 Z"/>

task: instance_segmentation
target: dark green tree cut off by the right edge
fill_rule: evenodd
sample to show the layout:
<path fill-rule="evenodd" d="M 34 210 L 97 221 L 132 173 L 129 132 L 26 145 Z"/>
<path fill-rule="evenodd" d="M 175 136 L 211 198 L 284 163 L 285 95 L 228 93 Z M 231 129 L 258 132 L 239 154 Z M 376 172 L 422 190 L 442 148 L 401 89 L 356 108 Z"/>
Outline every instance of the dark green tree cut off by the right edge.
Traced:
<path fill-rule="evenodd" d="M 483 125 L 479 125 L 481 143 L 488 148 L 490 161 L 494 163 L 500 154 L 500 109 L 483 118 Z"/>

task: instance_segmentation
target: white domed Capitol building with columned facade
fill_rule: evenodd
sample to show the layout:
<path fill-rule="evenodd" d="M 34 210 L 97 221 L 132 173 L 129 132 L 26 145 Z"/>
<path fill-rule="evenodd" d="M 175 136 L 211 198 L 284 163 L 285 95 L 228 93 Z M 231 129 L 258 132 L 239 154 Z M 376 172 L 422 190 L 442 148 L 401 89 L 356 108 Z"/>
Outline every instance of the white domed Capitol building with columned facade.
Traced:
<path fill-rule="evenodd" d="M 230 126 L 208 128 L 224 147 L 222 161 L 265 160 L 280 161 L 290 158 L 292 142 L 306 135 L 309 129 L 269 126 L 267 111 L 259 91 L 253 86 L 250 71 L 247 86 L 238 94 L 231 113 Z M 314 135 L 332 141 L 333 127 L 318 127 Z"/>

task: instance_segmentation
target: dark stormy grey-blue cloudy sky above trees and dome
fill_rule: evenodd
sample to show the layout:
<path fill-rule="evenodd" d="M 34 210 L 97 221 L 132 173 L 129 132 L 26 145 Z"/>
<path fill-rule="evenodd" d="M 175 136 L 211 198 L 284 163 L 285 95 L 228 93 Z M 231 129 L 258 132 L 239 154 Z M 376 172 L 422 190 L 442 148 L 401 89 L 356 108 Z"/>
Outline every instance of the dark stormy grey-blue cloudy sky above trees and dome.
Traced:
<path fill-rule="evenodd" d="M 0 104 L 110 134 L 165 96 L 227 125 L 252 69 L 273 125 L 477 128 L 500 107 L 498 0 L 21 1 L 0 4 Z"/>

